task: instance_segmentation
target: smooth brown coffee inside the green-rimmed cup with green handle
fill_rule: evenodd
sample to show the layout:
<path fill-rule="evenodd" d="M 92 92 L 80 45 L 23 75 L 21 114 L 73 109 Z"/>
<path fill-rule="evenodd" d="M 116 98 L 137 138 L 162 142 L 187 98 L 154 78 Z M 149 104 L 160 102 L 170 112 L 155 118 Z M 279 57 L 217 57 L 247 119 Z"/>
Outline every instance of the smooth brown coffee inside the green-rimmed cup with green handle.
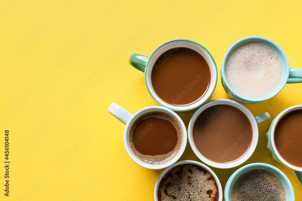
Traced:
<path fill-rule="evenodd" d="M 155 62 L 151 83 L 162 101 L 177 106 L 201 99 L 210 85 L 210 67 L 204 57 L 189 48 L 164 52 Z"/>

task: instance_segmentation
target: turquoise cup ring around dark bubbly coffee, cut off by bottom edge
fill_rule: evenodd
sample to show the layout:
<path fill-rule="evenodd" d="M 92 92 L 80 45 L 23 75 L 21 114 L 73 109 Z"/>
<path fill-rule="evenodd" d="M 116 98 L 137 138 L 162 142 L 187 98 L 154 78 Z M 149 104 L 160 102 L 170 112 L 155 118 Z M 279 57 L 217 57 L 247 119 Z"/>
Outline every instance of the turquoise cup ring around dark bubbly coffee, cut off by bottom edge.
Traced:
<path fill-rule="evenodd" d="M 252 169 L 264 169 L 267 171 L 270 171 L 271 173 L 275 174 L 282 184 L 284 185 L 285 191 L 286 191 L 286 201 L 294 201 L 295 200 L 295 194 L 293 186 L 291 185 L 291 182 L 289 181 L 288 177 L 278 168 L 268 165 L 266 163 L 251 163 L 248 165 L 243 166 L 242 168 L 239 168 L 236 170 L 228 179 L 226 182 L 226 186 L 224 188 L 224 200 L 225 201 L 231 201 L 231 192 L 233 184 L 235 183 L 236 179 L 243 174 L 246 171 L 252 170 Z"/>

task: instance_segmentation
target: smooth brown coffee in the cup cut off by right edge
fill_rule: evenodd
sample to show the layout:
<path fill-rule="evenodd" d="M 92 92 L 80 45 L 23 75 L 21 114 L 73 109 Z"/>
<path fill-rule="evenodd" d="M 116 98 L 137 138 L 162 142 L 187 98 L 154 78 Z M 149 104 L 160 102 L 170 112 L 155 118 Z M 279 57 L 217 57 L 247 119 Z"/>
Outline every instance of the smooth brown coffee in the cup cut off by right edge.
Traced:
<path fill-rule="evenodd" d="M 288 112 L 275 128 L 275 146 L 281 157 L 291 165 L 302 168 L 302 109 Z"/>

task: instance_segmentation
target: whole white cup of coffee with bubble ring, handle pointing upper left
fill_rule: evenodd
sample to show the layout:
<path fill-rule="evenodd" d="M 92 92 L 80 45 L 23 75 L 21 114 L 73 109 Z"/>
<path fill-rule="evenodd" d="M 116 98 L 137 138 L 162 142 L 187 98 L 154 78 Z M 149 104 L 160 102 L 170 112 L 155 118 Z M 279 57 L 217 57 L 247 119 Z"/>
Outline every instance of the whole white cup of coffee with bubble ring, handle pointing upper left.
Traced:
<path fill-rule="evenodd" d="M 114 102 L 111 103 L 108 111 L 126 125 L 124 130 L 124 146 L 130 158 L 138 165 L 149 169 L 166 168 L 175 163 L 185 151 L 187 144 L 186 127 L 182 119 L 174 111 L 161 106 L 150 106 L 140 109 L 132 115 Z M 147 122 L 153 116 L 155 120 Z M 144 124 L 141 122 L 144 122 Z M 168 131 L 172 129 L 174 132 L 172 133 L 172 137 L 165 136 L 163 139 L 158 136 L 158 133 L 161 133 L 161 130 L 164 129 L 161 127 L 162 125 Z M 135 134 L 139 130 L 141 130 L 140 133 Z M 154 135 L 153 137 L 153 133 L 156 133 L 156 136 Z M 154 154 L 155 156 L 150 155 L 150 151 L 161 151 L 161 149 L 164 149 L 163 146 L 166 145 L 169 145 L 171 149 L 169 152 L 164 152 L 167 149 L 165 148 L 163 150 L 164 153 L 156 153 Z M 151 147 L 152 150 L 151 148 L 148 150 L 148 147 Z"/>

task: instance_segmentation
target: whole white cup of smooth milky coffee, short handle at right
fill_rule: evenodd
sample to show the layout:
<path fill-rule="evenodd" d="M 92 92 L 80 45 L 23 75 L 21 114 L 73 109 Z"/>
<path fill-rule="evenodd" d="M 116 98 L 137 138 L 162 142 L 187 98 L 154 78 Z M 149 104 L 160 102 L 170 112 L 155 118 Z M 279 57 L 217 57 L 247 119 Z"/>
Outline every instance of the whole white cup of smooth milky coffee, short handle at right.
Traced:
<path fill-rule="evenodd" d="M 258 143 L 257 124 L 269 119 L 267 112 L 254 117 L 233 100 L 209 101 L 193 114 L 188 140 L 195 155 L 205 164 L 233 168 L 252 155 Z"/>

